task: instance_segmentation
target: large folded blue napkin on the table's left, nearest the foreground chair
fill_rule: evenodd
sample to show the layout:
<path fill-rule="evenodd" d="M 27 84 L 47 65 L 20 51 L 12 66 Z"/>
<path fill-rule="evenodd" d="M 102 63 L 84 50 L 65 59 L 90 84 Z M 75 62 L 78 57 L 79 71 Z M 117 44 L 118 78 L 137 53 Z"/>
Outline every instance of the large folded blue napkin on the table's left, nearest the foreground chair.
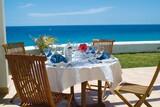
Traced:
<path fill-rule="evenodd" d="M 64 56 L 62 56 L 61 54 L 57 54 L 57 53 L 51 56 L 50 61 L 52 63 L 60 63 L 60 62 L 67 63 L 67 59 Z"/>

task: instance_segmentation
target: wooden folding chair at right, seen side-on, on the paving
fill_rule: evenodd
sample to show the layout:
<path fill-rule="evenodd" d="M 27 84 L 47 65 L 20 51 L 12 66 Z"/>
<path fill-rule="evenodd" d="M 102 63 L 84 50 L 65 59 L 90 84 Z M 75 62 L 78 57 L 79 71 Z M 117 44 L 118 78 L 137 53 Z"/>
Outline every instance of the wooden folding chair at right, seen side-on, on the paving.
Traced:
<path fill-rule="evenodd" d="M 138 84 L 132 84 L 132 83 L 122 83 L 119 86 L 117 86 L 114 90 L 115 94 L 117 94 L 124 103 L 126 103 L 129 107 L 141 107 L 141 105 L 144 103 L 147 107 L 152 107 L 147 101 L 146 98 L 150 96 L 154 82 L 156 81 L 156 78 L 158 77 L 158 74 L 160 72 L 160 62 L 157 66 L 157 69 L 155 71 L 155 74 L 152 78 L 152 81 L 150 82 L 149 86 L 143 86 Z M 139 100 L 136 102 L 134 106 L 132 106 L 123 96 L 122 93 L 132 93 L 135 94 Z"/>

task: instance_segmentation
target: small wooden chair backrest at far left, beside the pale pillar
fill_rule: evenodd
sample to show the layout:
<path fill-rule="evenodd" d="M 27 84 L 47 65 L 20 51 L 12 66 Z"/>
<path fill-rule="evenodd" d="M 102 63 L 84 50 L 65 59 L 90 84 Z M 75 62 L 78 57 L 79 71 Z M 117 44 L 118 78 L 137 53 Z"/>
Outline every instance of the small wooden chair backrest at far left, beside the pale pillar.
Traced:
<path fill-rule="evenodd" d="M 6 54 L 25 54 L 23 42 L 3 44 L 2 47 Z"/>

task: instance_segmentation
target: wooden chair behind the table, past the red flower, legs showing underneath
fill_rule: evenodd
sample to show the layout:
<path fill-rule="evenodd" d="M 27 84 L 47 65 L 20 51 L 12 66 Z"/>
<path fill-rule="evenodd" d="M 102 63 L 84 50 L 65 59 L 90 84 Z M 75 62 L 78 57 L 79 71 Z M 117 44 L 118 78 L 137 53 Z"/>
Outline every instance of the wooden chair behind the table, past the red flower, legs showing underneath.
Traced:
<path fill-rule="evenodd" d="M 93 46 L 98 50 L 98 51 L 107 51 L 109 54 L 112 54 L 112 49 L 113 49 L 113 43 L 114 43 L 114 40 L 104 40 L 104 39 L 95 39 L 93 40 Z M 104 98 L 105 97 L 105 92 L 106 92 L 106 89 L 109 88 L 109 83 L 106 81 L 105 82 L 105 85 L 102 86 L 103 89 L 103 92 L 102 92 L 102 97 Z M 87 82 L 87 89 L 88 90 L 95 90 L 95 89 L 92 89 L 92 87 L 98 87 L 98 85 L 93 85 L 93 84 L 89 84 Z"/>

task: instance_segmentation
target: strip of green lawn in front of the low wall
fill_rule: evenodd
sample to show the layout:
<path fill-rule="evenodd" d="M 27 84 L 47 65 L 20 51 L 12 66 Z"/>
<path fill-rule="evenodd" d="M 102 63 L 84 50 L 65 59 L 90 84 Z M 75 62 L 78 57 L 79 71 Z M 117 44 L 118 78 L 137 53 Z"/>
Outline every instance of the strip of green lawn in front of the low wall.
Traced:
<path fill-rule="evenodd" d="M 160 52 L 114 54 L 114 56 L 119 59 L 122 68 L 151 67 L 160 61 Z"/>

